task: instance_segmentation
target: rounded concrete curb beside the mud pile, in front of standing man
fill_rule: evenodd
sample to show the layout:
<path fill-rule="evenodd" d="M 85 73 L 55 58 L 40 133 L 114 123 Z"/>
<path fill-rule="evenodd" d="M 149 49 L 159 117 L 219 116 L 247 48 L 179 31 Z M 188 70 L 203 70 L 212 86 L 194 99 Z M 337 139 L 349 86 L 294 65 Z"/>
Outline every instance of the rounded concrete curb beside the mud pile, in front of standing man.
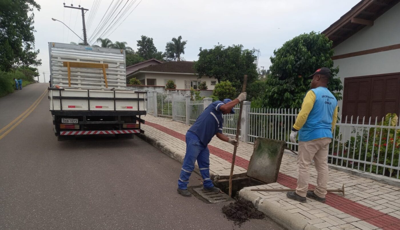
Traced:
<path fill-rule="evenodd" d="M 242 189 L 239 191 L 239 196 L 251 201 L 254 206 L 263 212 L 266 216 L 279 223 L 284 228 L 290 230 L 320 230 L 307 221 L 294 216 L 292 213 L 276 206 L 275 204 L 263 200 L 261 197 L 253 194 L 250 190 Z"/>

